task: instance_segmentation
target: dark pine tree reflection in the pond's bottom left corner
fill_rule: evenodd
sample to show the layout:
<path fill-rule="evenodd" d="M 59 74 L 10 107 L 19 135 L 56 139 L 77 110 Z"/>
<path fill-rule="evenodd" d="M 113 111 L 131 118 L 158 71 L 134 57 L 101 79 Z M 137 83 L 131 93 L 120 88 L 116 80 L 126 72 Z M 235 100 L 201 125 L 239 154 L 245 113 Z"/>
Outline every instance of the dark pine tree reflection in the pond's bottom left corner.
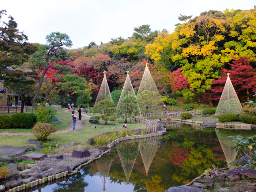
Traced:
<path fill-rule="evenodd" d="M 88 185 L 84 181 L 84 170 L 79 171 L 75 176 L 70 177 L 67 181 L 62 181 L 57 183 L 57 187 L 53 188 L 54 192 L 63 192 L 63 191 L 79 191 L 83 192 L 85 187 Z"/>

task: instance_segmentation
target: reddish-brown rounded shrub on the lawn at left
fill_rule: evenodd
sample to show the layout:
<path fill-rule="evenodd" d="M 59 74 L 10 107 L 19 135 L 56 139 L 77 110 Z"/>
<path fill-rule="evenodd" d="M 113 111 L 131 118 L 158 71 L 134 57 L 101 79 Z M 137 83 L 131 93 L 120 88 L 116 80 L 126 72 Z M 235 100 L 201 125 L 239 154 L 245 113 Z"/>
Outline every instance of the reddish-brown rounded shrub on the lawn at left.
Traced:
<path fill-rule="evenodd" d="M 32 128 L 33 135 L 38 141 L 44 141 L 48 136 L 57 131 L 56 127 L 49 123 L 38 123 Z"/>

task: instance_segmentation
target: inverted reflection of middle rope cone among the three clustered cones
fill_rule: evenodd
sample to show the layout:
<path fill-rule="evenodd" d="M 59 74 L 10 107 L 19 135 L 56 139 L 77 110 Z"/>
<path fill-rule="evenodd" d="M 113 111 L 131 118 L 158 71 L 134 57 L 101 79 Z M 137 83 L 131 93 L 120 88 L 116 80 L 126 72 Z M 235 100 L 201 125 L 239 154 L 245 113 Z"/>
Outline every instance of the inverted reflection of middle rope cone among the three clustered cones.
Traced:
<path fill-rule="evenodd" d="M 127 183 L 132 173 L 135 160 L 139 154 L 139 146 L 141 142 L 121 144 L 117 147 L 117 152 L 123 165 Z"/>

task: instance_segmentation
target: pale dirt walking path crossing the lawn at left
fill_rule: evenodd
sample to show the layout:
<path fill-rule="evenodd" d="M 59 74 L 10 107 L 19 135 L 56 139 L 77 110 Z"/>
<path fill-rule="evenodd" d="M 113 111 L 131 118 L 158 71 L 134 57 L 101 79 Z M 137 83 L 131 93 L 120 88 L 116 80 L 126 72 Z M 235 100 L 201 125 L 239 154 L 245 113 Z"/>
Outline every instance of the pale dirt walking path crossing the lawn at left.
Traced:
<path fill-rule="evenodd" d="M 66 112 L 66 109 L 62 110 L 60 112 Z M 73 131 L 73 123 L 71 122 L 71 120 L 72 120 L 71 113 L 70 113 L 70 115 L 66 115 L 66 114 L 63 114 L 63 115 L 68 116 L 70 118 L 69 127 L 67 129 L 63 129 L 63 130 L 57 131 L 57 132 L 55 132 L 53 134 L 68 133 L 68 132 L 72 132 Z M 84 128 L 84 126 L 83 126 L 84 121 L 88 120 L 90 117 L 91 116 L 82 113 L 82 119 L 80 121 L 79 120 L 76 121 L 76 128 L 75 128 L 76 131 L 79 131 L 80 129 L 83 129 Z M 8 133 L 8 132 L 0 132 L 0 135 L 3 135 L 3 136 L 18 136 L 18 135 L 31 136 L 33 134 L 32 133 L 17 133 L 17 132 L 10 132 L 10 133 Z"/>

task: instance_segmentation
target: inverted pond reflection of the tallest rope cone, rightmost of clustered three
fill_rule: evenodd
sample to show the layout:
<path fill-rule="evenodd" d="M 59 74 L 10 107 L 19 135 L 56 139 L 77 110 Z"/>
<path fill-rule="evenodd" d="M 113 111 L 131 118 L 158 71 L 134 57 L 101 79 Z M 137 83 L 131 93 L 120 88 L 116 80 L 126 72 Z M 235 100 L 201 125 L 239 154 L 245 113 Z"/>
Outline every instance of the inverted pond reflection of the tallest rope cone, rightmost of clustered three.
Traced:
<path fill-rule="evenodd" d="M 140 155 L 142 157 L 146 173 L 148 173 L 150 165 L 155 157 L 155 153 L 157 152 L 158 141 L 159 139 L 151 139 L 140 144 Z"/>

